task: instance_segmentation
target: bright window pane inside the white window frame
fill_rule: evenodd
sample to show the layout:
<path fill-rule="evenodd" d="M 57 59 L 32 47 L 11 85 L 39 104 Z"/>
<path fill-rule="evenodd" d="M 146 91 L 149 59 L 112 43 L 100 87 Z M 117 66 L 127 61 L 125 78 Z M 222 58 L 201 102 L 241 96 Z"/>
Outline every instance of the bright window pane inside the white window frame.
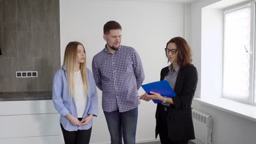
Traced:
<path fill-rule="evenodd" d="M 250 8 L 225 14 L 223 95 L 248 99 L 250 63 Z"/>

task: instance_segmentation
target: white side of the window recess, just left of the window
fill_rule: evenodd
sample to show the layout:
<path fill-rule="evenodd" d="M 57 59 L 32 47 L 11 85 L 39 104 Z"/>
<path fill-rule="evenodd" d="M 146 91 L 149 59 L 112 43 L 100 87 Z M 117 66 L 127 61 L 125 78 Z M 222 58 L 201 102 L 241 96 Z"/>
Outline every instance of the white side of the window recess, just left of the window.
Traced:
<path fill-rule="evenodd" d="M 223 10 L 203 8 L 201 24 L 201 98 L 220 97 L 223 68 Z"/>

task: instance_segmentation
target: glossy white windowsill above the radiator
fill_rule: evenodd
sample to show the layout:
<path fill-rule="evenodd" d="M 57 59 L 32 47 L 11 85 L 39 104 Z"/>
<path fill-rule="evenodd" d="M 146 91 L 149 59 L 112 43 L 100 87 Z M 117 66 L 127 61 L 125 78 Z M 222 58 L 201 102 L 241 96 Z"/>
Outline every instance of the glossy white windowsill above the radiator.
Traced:
<path fill-rule="evenodd" d="M 251 121 L 256 122 L 256 106 L 239 103 L 234 100 L 216 98 L 216 99 L 202 99 L 194 98 L 201 104 L 205 104 L 216 109 L 232 113 L 236 116 L 240 116 Z"/>

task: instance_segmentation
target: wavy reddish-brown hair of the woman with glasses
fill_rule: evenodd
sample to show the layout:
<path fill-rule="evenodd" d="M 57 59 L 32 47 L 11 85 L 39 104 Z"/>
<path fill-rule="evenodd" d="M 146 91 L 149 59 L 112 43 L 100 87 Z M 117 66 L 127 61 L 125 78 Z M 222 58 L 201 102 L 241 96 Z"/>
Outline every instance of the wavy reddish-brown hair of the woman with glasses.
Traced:
<path fill-rule="evenodd" d="M 169 43 L 174 43 L 177 46 L 178 50 L 178 56 L 177 56 L 177 64 L 179 67 L 185 67 L 188 64 L 192 63 L 192 54 L 191 49 L 185 39 L 182 37 L 175 37 L 172 38 L 168 43 L 166 44 L 166 47 Z M 167 53 L 166 53 L 167 57 Z"/>

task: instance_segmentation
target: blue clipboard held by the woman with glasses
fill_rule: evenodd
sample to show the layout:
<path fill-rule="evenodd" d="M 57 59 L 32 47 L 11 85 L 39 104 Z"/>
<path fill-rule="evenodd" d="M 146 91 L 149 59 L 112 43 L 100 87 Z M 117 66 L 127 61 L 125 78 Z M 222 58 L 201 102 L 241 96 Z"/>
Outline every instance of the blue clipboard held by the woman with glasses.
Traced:
<path fill-rule="evenodd" d="M 170 86 L 169 82 L 167 80 L 163 81 L 157 81 L 157 82 L 152 82 L 148 83 L 146 85 L 141 85 L 141 87 L 144 89 L 144 91 L 150 95 L 149 92 L 155 92 L 159 93 L 164 97 L 175 97 L 176 93 L 173 91 L 172 87 Z M 160 100 L 155 100 L 152 99 L 154 103 L 162 103 Z"/>

